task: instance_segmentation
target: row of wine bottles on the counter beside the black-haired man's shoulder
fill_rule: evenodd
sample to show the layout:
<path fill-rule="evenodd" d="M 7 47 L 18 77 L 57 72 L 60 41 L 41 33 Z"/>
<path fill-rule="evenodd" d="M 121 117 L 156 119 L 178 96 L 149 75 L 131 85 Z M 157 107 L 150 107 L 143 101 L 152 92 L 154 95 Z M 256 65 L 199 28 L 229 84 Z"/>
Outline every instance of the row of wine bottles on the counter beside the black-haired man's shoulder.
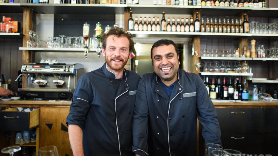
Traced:
<path fill-rule="evenodd" d="M 216 81 L 217 80 L 217 81 Z M 222 100 L 248 100 L 249 92 L 246 82 L 246 77 L 244 77 L 243 85 L 241 82 L 241 76 L 239 78 L 234 78 L 232 82 L 232 77 L 223 77 L 222 83 L 221 79 L 215 79 L 212 77 L 209 81 L 209 77 L 203 77 L 203 82 L 207 88 L 207 92 L 210 95 L 210 99 L 222 99 Z"/>

